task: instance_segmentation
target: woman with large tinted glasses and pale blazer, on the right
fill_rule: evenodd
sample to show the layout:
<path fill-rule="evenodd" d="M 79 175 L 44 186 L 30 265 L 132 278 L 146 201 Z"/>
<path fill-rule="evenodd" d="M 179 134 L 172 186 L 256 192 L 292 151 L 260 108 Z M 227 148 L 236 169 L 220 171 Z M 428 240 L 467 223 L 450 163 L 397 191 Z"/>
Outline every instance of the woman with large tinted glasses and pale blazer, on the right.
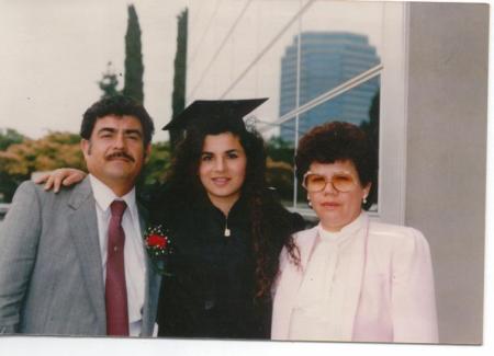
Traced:
<path fill-rule="evenodd" d="M 319 223 L 294 236 L 299 259 L 281 253 L 271 337 L 437 343 L 426 239 L 362 210 L 377 172 L 364 133 L 318 126 L 301 139 L 295 162 Z"/>

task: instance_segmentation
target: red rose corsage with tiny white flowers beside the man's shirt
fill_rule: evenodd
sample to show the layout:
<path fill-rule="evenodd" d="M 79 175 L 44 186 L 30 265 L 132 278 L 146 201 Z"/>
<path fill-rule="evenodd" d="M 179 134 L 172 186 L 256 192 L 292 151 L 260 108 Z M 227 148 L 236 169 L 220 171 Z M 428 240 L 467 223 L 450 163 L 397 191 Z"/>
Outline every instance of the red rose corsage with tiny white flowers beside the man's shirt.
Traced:
<path fill-rule="evenodd" d="M 168 231 L 161 225 L 148 227 L 144 233 L 144 244 L 156 272 L 171 276 L 167 271 L 167 264 L 173 248 Z"/>

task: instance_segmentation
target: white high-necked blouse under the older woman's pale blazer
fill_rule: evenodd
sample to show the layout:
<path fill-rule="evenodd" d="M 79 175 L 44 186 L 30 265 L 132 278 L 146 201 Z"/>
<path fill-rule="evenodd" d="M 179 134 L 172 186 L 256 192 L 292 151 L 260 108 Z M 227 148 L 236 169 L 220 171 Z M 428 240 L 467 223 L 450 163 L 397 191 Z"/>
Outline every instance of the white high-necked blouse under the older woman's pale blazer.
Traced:
<path fill-rule="evenodd" d="M 341 231 L 329 232 L 317 227 L 318 237 L 308 260 L 295 308 L 292 314 L 290 338 L 344 341 L 341 320 L 350 284 L 356 219 Z"/>

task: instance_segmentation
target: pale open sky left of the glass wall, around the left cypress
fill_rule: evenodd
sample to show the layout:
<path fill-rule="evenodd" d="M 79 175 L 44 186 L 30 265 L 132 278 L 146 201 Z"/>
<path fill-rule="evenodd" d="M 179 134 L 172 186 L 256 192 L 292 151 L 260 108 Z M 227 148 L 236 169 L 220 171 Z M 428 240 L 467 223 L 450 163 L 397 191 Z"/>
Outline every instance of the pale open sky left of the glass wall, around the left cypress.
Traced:
<path fill-rule="evenodd" d="M 0 0 L 0 128 L 32 138 L 77 133 L 113 62 L 124 68 L 125 0 Z M 145 106 L 155 140 L 170 116 L 177 15 L 186 1 L 134 1 L 142 28 Z M 123 80 L 121 81 L 123 84 Z"/>

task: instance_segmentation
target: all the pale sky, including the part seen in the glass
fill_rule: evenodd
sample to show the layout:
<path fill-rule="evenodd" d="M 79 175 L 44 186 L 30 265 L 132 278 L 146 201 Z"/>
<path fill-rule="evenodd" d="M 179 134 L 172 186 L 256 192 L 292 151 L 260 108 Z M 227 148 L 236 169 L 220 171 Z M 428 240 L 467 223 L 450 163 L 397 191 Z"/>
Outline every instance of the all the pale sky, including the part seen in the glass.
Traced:
<path fill-rule="evenodd" d="M 154 141 L 168 139 L 160 128 L 171 117 L 177 16 L 189 8 L 188 103 L 217 99 L 254 56 L 308 0 L 134 0 L 142 30 L 145 106 L 155 119 Z M 78 133 L 81 115 L 101 91 L 97 82 L 106 64 L 124 70 L 128 0 L 0 0 L 0 128 L 31 138 L 49 130 Z M 316 2 L 304 30 L 330 30 L 357 23 L 363 15 L 334 16 L 344 2 Z M 347 5 L 348 7 L 348 5 Z M 369 7 L 368 7 L 369 8 Z M 375 7 L 374 7 L 375 8 Z M 210 59 L 239 13 L 245 15 L 211 68 Z M 360 8 L 357 8 L 359 10 Z M 379 5 L 375 8 L 379 18 Z M 374 10 L 375 12 L 375 10 Z M 367 24 L 366 24 L 367 23 Z M 260 113 L 274 120 L 279 107 L 280 58 L 293 43 L 295 26 L 272 46 L 227 99 L 270 96 Z M 360 30 L 358 30 L 360 31 Z M 379 47 L 380 33 L 371 34 Z M 203 73 L 205 73 L 204 77 Z M 201 80 L 202 79 L 202 80 Z M 123 85 L 123 79 L 121 80 Z"/>

